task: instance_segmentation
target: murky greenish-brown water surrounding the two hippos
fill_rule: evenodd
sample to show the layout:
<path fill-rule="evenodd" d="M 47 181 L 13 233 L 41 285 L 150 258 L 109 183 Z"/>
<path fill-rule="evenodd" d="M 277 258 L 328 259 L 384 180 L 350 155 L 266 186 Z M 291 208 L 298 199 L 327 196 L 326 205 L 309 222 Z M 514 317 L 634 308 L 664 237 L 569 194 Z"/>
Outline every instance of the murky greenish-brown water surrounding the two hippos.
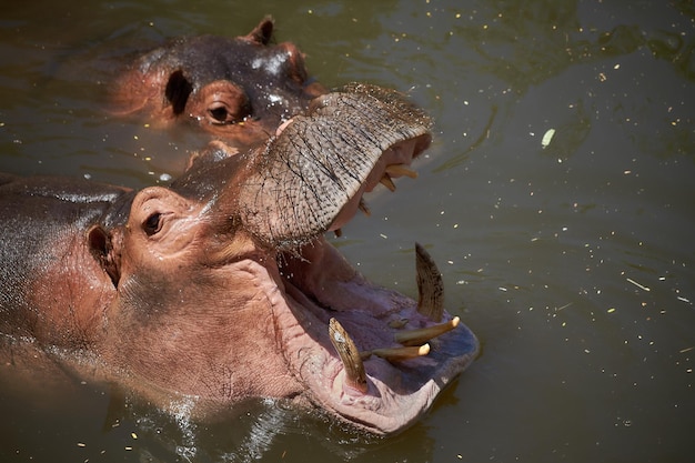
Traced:
<path fill-rule="evenodd" d="M 693 3 L 4 2 L 0 170 L 135 188 L 175 175 L 199 140 L 105 114 L 113 61 L 265 13 L 324 83 L 407 91 L 436 119 L 420 178 L 367 199 L 372 217 L 335 243 L 409 294 L 413 242 L 430 245 L 482 355 L 385 440 L 274 403 L 210 424 L 92 384 L 0 384 L 0 460 L 692 461 Z"/>

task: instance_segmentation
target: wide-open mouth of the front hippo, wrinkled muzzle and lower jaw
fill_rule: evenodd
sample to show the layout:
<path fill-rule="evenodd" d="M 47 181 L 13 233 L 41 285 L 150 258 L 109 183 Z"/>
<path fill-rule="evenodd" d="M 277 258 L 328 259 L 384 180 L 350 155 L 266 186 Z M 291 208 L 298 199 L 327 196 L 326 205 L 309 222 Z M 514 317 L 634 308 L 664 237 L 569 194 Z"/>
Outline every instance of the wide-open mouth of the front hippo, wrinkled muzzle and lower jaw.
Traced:
<path fill-rule="evenodd" d="M 400 93 L 345 87 L 266 145 L 241 194 L 244 228 L 281 250 L 275 311 L 291 369 L 318 405 L 377 433 L 421 416 L 472 362 L 477 341 L 444 311 L 424 248 L 415 252 L 416 302 L 367 282 L 323 232 L 367 212 L 362 194 L 379 183 L 394 190 L 392 178 L 415 177 L 409 165 L 430 145 L 430 125 Z"/>

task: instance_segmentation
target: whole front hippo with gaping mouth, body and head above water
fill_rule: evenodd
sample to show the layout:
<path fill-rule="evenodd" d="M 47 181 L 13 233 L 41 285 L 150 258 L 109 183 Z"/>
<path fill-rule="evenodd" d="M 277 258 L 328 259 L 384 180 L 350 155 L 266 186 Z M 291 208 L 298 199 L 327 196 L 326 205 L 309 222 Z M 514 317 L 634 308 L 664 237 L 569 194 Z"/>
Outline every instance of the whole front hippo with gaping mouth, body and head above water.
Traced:
<path fill-rule="evenodd" d="M 322 234 L 354 214 L 387 165 L 410 164 L 430 121 L 399 93 L 349 85 L 315 99 L 265 145 L 221 142 L 170 188 L 0 175 L 1 360 L 31 344 L 78 374 L 212 415 L 248 397 L 311 403 L 360 429 L 412 424 L 473 360 L 463 324 L 426 356 L 364 361 L 355 390 L 329 339 L 361 351 L 434 324 L 373 285 Z M 443 321 L 451 320 L 444 313 Z"/>

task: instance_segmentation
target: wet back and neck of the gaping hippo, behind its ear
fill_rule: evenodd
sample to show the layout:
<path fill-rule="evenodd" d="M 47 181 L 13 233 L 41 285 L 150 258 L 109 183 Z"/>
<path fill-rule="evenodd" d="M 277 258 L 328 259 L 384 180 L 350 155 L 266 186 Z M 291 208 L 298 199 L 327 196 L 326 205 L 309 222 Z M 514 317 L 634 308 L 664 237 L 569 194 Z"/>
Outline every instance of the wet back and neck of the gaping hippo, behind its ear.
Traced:
<path fill-rule="evenodd" d="M 52 333 L 73 322 L 75 299 L 97 283 L 93 272 L 103 274 L 84 245 L 87 231 L 122 222 L 130 197 L 85 180 L 0 174 L 2 334 L 64 344 L 70 335 Z"/>

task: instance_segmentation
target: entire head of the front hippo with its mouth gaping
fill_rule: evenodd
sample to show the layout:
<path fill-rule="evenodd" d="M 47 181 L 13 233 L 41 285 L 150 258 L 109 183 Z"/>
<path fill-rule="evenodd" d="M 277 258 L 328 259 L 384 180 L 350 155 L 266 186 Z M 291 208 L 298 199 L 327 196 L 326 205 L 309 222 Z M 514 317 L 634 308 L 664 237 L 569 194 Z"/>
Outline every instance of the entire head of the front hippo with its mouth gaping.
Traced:
<path fill-rule="evenodd" d="M 118 295 L 102 356 L 138 384 L 212 409 L 306 401 L 374 433 L 412 424 L 473 360 L 416 246 L 420 301 L 361 276 L 323 238 L 364 192 L 413 177 L 430 120 L 396 92 L 352 84 L 315 99 L 259 149 L 213 142 L 127 224 L 90 231 Z"/>

